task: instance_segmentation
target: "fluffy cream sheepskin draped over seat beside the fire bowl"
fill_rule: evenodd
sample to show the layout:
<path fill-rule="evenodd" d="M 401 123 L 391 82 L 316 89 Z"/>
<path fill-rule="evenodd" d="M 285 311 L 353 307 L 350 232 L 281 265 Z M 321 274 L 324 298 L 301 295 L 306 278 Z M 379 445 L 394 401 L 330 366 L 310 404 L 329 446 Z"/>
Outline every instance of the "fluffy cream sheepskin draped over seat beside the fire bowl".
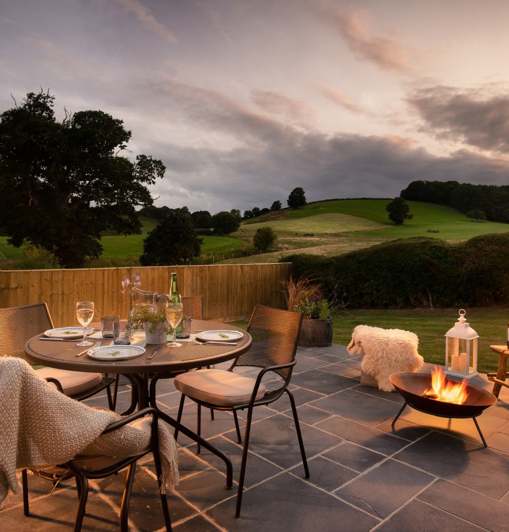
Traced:
<path fill-rule="evenodd" d="M 372 375 L 379 389 L 393 392 L 389 377 L 401 371 L 417 371 L 424 359 L 417 353 L 419 339 L 413 332 L 358 325 L 348 345 L 350 355 L 364 355 L 361 369 Z"/>

